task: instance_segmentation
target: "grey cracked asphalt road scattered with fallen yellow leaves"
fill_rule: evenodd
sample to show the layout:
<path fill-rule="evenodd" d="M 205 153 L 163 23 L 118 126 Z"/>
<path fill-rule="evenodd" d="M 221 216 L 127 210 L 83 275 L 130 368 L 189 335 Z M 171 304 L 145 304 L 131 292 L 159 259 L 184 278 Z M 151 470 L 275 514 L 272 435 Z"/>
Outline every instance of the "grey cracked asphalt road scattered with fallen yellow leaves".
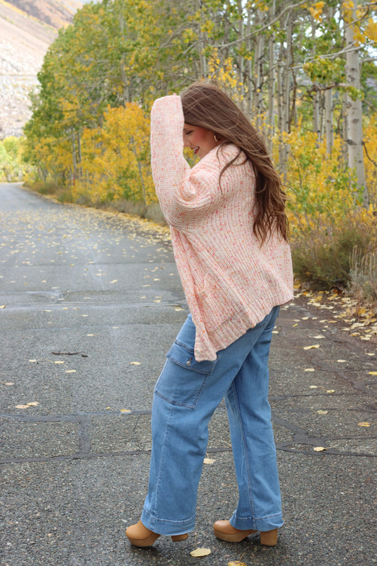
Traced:
<path fill-rule="evenodd" d="M 220 405 L 195 531 L 137 549 L 124 529 L 146 494 L 153 384 L 187 314 L 170 245 L 18 184 L 0 185 L 0 233 L 1 566 L 376 564 L 376 344 L 342 333 L 336 308 L 295 301 L 274 331 L 277 546 L 214 538 L 237 499 Z"/>

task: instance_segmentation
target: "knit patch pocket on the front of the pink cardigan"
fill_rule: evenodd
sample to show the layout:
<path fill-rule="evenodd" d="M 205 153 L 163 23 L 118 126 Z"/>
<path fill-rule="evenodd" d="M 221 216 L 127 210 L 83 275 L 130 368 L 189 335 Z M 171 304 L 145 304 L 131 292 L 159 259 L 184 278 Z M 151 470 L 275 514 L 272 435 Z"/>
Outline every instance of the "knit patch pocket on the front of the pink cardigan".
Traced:
<path fill-rule="evenodd" d="M 204 288 L 199 291 L 195 287 L 197 303 L 205 327 L 208 332 L 219 328 L 235 314 L 230 298 L 226 296 L 214 277 L 207 274 L 204 277 Z"/>

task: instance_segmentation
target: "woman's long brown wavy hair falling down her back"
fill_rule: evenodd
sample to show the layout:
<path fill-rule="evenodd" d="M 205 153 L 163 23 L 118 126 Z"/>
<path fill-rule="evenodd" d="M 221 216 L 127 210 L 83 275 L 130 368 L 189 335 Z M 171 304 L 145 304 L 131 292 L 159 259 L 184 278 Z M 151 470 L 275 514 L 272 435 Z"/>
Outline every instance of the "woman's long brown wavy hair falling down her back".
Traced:
<path fill-rule="evenodd" d="M 180 98 L 186 124 L 209 129 L 221 140 L 221 145 L 231 143 L 240 149 L 221 171 L 220 180 L 224 171 L 238 160 L 241 151 L 253 164 L 257 185 L 253 232 L 261 244 L 275 230 L 288 241 L 289 224 L 284 213 L 286 195 L 261 135 L 233 100 L 214 84 L 193 83 L 182 91 Z"/>

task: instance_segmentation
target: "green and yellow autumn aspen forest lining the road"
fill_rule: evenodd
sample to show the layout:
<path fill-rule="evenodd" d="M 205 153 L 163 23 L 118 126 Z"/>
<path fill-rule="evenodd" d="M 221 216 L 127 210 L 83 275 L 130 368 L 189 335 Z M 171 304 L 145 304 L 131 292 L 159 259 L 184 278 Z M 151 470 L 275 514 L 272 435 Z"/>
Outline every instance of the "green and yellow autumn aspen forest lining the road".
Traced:
<path fill-rule="evenodd" d="M 145 216 L 153 100 L 215 82 L 282 175 L 296 277 L 376 306 L 376 14 L 352 0 L 86 4 L 45 56 L 25 137 L 0 142 L 0 175 Z"/>

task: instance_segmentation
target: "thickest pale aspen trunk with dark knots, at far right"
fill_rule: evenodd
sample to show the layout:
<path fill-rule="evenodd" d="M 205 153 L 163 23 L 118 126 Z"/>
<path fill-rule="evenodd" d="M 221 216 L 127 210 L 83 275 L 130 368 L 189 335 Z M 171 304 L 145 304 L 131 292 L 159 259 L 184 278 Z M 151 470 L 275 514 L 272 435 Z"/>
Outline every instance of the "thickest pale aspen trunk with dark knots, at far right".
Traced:
<path fill-rule="evenodd" d="M 356 19 L 356 8 L 352 8 L 352 20 Z M 346 40 L 347 59 L 346 59 L 346 81 L 347 86 L 360 88 L 360 62 L 359 51 L 354 43 L 354 31 L 352 21 L 344 20 L 344 36 Z M 347 93 L 347 148 L 348 166 L 356 168 L 357 184 L 364 187 L 363 204 L 369 206 L 368 191 L 366 190 L 366 180 L 363 159 L 363 110 L 361 100 L 353 100 L 350 93 Z"/>

